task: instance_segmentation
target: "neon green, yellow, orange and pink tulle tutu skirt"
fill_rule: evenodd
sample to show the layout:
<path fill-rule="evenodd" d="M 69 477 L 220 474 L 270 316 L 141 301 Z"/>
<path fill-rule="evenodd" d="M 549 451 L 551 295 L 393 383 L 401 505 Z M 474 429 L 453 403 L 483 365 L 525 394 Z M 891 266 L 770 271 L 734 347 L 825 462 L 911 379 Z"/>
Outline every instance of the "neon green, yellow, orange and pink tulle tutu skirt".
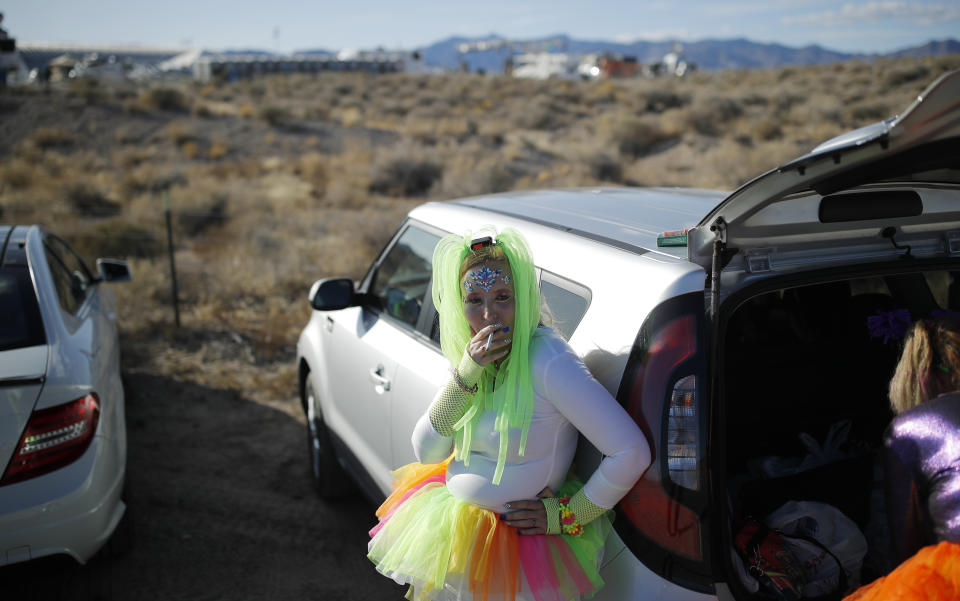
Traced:
<path fill-rule="evenodd" d="M 599 554 L 610 531 L 602 516 L 578 537 L 529 536 L 496 512 L 447 491 L 444 463 L 394 472 L 394 491 L 377 510 L 367 547 L 377 571 L 409 584 L 414 601 L 570 601 L 603 586 Z M 567 481 L 560 496 L 582 485 Z"/>

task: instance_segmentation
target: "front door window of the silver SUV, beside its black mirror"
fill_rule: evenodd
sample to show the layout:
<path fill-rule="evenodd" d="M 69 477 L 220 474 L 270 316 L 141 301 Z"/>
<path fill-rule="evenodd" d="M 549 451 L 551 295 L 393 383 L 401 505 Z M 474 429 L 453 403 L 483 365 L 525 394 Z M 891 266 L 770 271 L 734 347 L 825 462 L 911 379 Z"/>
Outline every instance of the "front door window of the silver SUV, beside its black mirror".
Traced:
<path fill-rule="evenodd" d="M 439 241 L 439 236 L 411 225 L 387 251 L 370 282 L 380 309 L 412 328 L 430 290 L 433 248 Z"/>

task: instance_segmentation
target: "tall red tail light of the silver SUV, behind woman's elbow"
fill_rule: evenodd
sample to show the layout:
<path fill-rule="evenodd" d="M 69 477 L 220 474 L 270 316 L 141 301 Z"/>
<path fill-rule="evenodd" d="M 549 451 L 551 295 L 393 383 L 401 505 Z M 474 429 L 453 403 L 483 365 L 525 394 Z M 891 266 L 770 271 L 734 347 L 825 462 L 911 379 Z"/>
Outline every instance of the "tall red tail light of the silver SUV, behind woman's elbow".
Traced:
<path fill-rule="evenodd" d="M 651 311 L 627 361 L 617 398 L 640 426 L 650 467 L 617 505 L 615 527 L 647 567 L 692 590 L 713 586 L 705 473 L 707 415 L 703 295 Z"/>

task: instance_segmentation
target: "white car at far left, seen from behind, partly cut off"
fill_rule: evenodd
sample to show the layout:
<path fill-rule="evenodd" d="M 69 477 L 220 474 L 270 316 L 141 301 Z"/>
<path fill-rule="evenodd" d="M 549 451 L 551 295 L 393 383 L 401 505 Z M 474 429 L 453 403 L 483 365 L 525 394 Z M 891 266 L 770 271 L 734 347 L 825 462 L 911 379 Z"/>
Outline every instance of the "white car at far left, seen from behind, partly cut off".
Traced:
<path fill-rule="evenodd" d="M 0 226 L 0 565 L 86 562 L 124 514 L 127 434 L 113 293 L 40 226 Z"/>

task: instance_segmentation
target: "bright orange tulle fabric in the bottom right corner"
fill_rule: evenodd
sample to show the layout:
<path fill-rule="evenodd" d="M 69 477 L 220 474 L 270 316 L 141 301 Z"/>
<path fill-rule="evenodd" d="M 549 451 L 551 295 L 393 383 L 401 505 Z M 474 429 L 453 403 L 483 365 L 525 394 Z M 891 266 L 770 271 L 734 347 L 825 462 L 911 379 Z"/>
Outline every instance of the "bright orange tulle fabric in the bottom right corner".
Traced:
<path fill-rule="evenodd" d="M 883 578 L 843 601 L 956 601 L 960 599 L 960 544 L 924 547 Z"/>

